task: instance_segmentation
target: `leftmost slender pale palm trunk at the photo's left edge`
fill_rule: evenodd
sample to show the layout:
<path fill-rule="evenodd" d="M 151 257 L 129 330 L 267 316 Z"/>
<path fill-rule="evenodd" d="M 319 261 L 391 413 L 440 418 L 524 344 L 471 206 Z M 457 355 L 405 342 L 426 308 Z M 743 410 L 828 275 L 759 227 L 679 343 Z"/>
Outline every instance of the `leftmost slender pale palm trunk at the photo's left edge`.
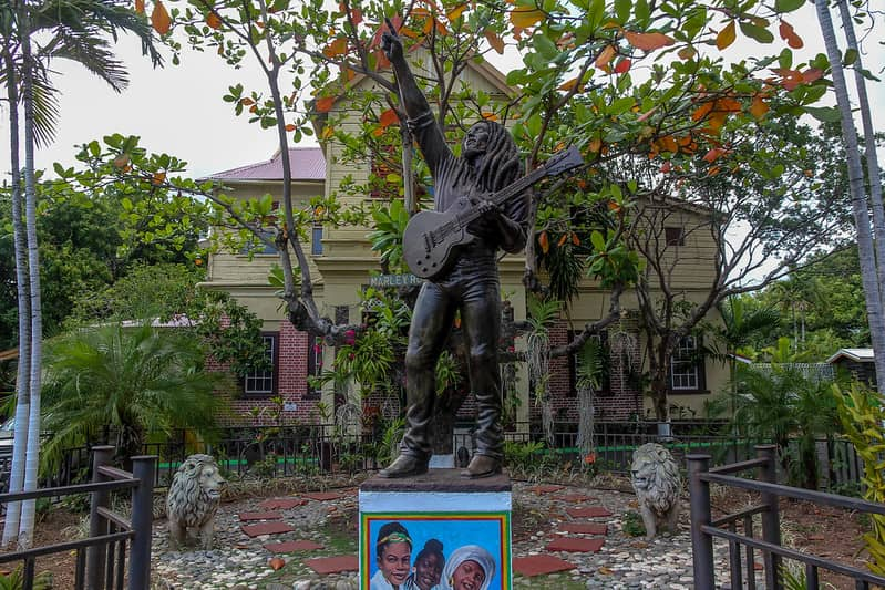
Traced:
<path fill-rule="evenodd" d="M 19 306 L 19 365 L 16 377 L 16 429 L 12 444 L 12 468 L 9 491 L 21 491 L 24 483 L 24 459 L 28 446 L 28 415 L 31 403 L 31 312 L 28 290 L 28 245 L 22 215 L 21 162 L 19 161 L 19 96 L 16 83 L 16 68 L 8 43 L 3 50 L 3 65 L 7 72 L 7 97 L 9 100 L 9 144 L 12 169 L 12 232 L 16 251 L 16 291 Z M 7 505 L 3 526 L 3 547 L 18 539 L 21 503 Z"/>

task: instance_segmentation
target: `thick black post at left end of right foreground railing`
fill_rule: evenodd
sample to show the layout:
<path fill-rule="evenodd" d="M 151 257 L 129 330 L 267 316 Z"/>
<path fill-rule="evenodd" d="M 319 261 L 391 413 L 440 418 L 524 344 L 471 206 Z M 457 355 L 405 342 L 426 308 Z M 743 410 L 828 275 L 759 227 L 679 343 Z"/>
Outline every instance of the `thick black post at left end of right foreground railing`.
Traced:
<path fill-rule="evenodd" d="M 688 462 L 688 490 L 691 506 L 691 553 L 694 566 L 694 588 L 713 590 L 713 538 L 701 530 L 712 520 L 710 513 L 710 484 L 701 479 L 701 474 L 710 468 L 710 455 L 686 455 Z"/>

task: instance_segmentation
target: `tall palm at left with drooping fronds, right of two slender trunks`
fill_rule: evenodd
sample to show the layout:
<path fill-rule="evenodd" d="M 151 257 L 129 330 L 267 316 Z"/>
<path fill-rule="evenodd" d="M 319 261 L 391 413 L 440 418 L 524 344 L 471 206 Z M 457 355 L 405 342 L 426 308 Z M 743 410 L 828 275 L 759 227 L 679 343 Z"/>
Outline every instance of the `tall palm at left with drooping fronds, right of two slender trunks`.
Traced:
<path fill-rule="evenodd" d="M 18 178 L 19 127 L 18 110 L 24 114 L 24 224 L 14 225 L 17 246 L 17 279 L 19 291 L 20 334 L 22 352 L 16 414 L 28 421 L 18 422 L 16 431 L 10 491 L 37 487 L 40 433 L 40 374 L 42 317 L 40 303 L 40 260 L 37 244 L 37 194 L 34 180 L 34 145 L 52 139 L 58 115 L 55 91 L 49 83 L 48 62 L 53 58 L 74 60 L 121 91 L 127 79 L 122 62 L 114 59 L 109 42 L 120 31 L 133 32 L 142 39 L 142 48 L 154 64 L 159 54 L 153 45 L 153 34 L 145 18 L 137 15 L 119 0 L 25 0 L 4 2 L 0 7 L 0 43 L 3 68 L 0 80 L 6 83 L 10 100 L 11 164 L 13 168 L 13 211 L 21 211 L 21 182 Z M 51 33 L 50 41 L 40 45 L 34 33 Z M 27 259 L 24 238 L 27 234 Z M 28 281 L 24 281 L 24 275 Z M 24 328 L 27 324 L 27 328 Z M 22 329 L 24 328 L 24 329 Z M 27 351 L 25 351 L 27 349 Z M 27 362 L 27 364 L 25 364 Z M 27 428 L 24 424 L 28 424 Z M 27 444 L 25 444 L 27 439 Z M 23 455 L 22 455 L 23 454 Z M 19 546 L 31 544 L 34 500 L 13 503 L 3 529 L 3 544 L 19 538 Z M 21 513 L 20 513 L 21 510 Z M 20 520 L 21 514 L 21 520 Z"/>

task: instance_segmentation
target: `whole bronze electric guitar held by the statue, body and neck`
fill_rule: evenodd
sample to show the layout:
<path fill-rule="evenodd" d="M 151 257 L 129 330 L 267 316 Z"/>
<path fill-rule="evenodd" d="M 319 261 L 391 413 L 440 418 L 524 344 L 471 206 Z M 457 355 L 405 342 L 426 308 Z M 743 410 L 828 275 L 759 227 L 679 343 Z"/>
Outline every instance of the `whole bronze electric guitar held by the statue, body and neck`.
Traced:
<path fill-rule="evenodd" d="M 547 176 L 557 176 L 582 164 L 577 147 L 569 147 L 486 200 L 500 206 Z M 446 271 L 457 260 L 459 250 L 475 239 L 467 226 L 481 215 L 482 211 L 462 197 L 445 211 L 421 211 L 412 217 L 402 237 L 403 258 L 412 273 L 433 279 Z"/>

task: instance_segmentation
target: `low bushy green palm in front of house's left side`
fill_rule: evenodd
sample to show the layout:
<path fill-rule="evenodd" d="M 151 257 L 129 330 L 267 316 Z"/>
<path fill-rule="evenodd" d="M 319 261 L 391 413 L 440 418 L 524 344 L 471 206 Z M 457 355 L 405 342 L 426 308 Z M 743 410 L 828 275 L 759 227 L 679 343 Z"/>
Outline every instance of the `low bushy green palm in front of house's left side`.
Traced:
<path fill-rule="evenodd" d="M 204 370 L 205 350 L 192 334 L 114 323 L 60 337 L 47 352 L 47 464 L 95 442 L 105 427 L 116 432 L 126 462 L 142 453 L 146 433 L 207 434 L 215 424 L 218 376 Z"/>

